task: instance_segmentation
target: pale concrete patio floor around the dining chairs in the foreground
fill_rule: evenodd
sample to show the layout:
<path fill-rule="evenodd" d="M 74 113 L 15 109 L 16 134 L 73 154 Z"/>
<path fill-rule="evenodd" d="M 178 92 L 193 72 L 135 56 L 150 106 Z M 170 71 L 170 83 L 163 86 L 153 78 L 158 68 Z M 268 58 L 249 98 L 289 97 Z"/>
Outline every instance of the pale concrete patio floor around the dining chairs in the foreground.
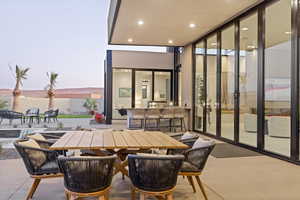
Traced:
<path fill-rule="evenodd" d="M 20 159 L 0 161 L 0 199 L 23 200 L 32 179 Z M 209 200 L 298 200 L 300 167 L 267 156 L 210 157 L 202 176 Z M 130 199 L 130 180 L 113 179 L 110 199 Z M 63 200 L 63 180 L 43 180 L 34 199 Z M 193 193 L 186 179 L 179 178 L 174 199 L 204 199 Z"/>

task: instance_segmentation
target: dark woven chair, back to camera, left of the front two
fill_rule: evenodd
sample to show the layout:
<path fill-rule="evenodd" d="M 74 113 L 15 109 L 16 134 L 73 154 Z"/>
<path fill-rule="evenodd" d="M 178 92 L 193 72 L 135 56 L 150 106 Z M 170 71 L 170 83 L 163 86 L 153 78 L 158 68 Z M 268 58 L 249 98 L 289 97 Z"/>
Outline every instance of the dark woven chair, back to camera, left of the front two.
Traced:
<path fill-rule="evenodd" d="M 98 197 L 108 200 L 116 156 L 59 157 L 67 200 Z"/>

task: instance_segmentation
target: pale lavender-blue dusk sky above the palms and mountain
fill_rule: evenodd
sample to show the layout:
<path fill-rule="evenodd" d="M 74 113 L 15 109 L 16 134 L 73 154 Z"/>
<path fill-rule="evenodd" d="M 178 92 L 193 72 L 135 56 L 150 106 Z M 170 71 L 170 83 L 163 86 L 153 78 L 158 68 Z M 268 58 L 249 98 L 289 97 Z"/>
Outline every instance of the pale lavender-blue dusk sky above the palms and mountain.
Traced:
<path fill-rule="evenodd" d="M 13 88 L 8 64 L 29 67 L 24 89 L 102 87 L 109 0 L 1 0 L 0 88 Z"/>

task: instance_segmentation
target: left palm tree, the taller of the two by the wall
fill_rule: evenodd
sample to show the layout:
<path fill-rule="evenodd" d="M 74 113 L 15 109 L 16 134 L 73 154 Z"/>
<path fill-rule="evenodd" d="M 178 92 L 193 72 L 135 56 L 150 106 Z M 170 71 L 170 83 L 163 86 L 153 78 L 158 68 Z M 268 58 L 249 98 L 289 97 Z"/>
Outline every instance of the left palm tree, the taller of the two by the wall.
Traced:
<path fill-rule="evenodd" d="M 20 68 L 18 65 L 16 65 L 16 71 L 15 71 L 15 79 L 16 79 L 16 85 L 13 90 L 13 111 L 18 111 L 19 108 L 19 97 L 21 95 L 20 86 L 23 85 L 23 80 L 27 79 L 27 72 L 29 71 L 29 68 Z"/>

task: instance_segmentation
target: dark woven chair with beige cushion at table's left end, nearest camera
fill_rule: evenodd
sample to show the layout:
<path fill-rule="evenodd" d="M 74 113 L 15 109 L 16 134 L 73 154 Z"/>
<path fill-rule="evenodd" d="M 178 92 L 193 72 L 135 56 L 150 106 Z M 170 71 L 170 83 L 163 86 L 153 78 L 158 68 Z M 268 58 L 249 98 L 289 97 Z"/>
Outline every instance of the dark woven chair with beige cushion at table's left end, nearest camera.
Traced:
<path fill-rule="evenodd" d="M 34 179 L 26 200 L 32 199 L 39 183 L 45 178 L 62 177 L 57 164 L 58 153 L 48 149 L 40 148 L 33 140 L 17 140 L 14 142 L 16 150 L 19 152 L 25 167 Z M 31 146 L 24 142 L 31 142 Z"/>

